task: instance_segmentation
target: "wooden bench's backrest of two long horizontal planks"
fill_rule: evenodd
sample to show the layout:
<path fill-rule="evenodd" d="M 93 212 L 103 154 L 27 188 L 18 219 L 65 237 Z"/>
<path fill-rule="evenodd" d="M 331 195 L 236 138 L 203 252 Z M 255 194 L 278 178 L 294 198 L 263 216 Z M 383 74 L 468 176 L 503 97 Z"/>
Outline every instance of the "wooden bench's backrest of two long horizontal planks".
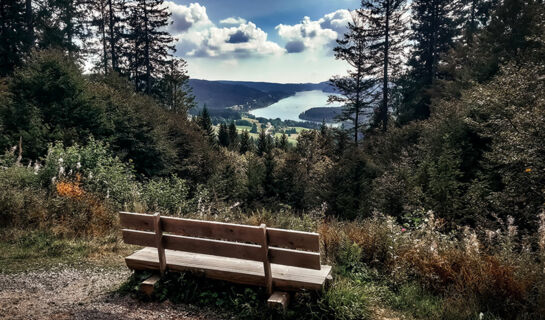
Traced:
<path fill-rule="evenodd" d="M 317 233 L 129 212 L 120 222 L 127 244 L 320 270 Z"/>

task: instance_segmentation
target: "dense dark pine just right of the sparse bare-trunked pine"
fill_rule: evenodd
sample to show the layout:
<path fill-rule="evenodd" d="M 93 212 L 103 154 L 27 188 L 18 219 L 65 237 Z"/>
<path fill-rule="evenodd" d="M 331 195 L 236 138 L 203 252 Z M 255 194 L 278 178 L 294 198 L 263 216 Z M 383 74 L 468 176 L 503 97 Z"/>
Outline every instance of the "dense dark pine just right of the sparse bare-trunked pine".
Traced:
<path fill-rule="evenodd" d="M 439 77 L 438 67 L 443 62 L 443 55 L 454 46 L 460 33 L 463 5 L 457 0 L 413 2 L 411 41 L 414 47 L 399 110 L 401 123 L 429 117 L 431 86 Z"/>

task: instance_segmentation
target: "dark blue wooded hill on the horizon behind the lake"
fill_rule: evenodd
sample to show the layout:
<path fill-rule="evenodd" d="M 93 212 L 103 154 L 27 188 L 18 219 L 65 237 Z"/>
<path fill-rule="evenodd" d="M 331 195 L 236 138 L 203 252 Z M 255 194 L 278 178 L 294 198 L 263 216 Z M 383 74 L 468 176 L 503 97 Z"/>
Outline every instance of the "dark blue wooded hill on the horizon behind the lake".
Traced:
<path fill-rule="evenodd" d="M 208 81 L 190 79 L 199 108 L 206 104 L 212 112 L 225 109 L 248 111 L 269 106 L 299 91 L 332 92 L 327 82 L 271 83 L 250 81 Z"/>

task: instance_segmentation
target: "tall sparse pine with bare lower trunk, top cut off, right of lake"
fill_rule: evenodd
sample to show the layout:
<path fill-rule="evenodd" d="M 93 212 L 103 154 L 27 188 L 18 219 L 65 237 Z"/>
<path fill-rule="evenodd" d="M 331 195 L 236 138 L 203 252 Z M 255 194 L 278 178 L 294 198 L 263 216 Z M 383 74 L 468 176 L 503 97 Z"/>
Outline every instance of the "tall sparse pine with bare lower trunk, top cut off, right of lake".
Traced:
<path fill-rule="evenodd" d="M 375 112 L 375 125 L 388 128 L 390 86 L 403 64 L 407 40 L 406 0 L 362 0 L 358 13 L 368 23 L 369 55 L 375 57 L 371 75 L 382 83 L 382 101 Z"/>

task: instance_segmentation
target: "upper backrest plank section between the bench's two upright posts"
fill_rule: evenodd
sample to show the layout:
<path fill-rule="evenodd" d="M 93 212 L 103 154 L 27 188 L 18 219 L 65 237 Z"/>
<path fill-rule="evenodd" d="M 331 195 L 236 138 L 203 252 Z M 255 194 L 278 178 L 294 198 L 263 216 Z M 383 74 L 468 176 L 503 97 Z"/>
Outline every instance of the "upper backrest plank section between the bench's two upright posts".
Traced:
<path fill-rule="evenodd" d="M 259 227 L 241 224 L 161 217 L 164 232 L 187 237 L 261 243 Z"/>

